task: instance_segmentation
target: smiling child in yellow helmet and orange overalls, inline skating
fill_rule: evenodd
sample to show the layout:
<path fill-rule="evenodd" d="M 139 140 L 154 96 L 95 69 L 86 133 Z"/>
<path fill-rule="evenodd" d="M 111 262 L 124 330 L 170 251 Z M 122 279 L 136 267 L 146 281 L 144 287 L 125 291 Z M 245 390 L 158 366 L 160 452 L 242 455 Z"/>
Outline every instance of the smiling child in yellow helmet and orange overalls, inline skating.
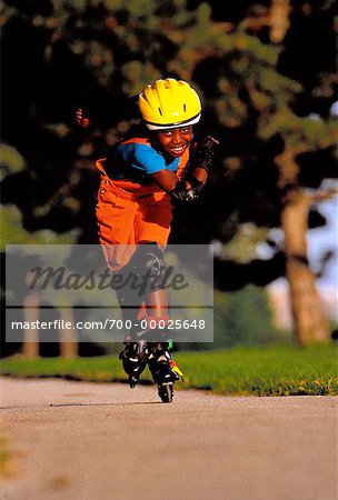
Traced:
<path fill-rule="evenodd" d="M 101 172 L 96 213 L 108 267 L 125 278 L 131 272 L 147 276 L 142 297 L 130 289 L 118 290 L 123 318 L 135 324 L 143 318 L 142 326 L 151 323 L 153 329 L 159 321 L 166 324 L 169 320 L 167 291 L 157 283 L 163 272 L 172 203 L 199 198 L 217 141 L 208 137 L 201 147 L 192 144 L 201 102 L 185 81 L 155 81 L 138 96 L 138 108 L 140 132 L 121 140 L 110 158 L 96 163 Z M 132 327 L 120 359 L 131 388 L 148 363 L 160 398 L 170 402 L 172 384 L 182 373 L 168 342 L 158 341 L 153 333 L 149 328 Z"/>

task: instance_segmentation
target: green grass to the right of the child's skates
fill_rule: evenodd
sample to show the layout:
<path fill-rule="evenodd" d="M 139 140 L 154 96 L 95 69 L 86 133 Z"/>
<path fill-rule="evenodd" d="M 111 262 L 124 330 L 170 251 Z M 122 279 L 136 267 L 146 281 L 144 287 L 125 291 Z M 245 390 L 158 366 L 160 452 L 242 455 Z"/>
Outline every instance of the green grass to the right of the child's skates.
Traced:
<path fill-rule="evenodd" d="M 337 354 L 331 346 L 237 348 L 187 353 L 181 364 L 190 387 L 222 394 L 324 396 L 338 393 Z"/>

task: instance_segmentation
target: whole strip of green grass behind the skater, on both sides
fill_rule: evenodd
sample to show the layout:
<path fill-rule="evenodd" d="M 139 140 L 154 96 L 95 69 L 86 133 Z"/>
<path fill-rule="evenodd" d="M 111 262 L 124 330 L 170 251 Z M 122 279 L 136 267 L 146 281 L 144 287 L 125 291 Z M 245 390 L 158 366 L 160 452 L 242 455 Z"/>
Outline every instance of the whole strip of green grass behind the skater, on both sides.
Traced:
<path fill-rule="evenodd" d="M 175 359 L 185 373 L 185 383 L 179 382 L 177 387 L 220 394 L 332 396 L 338 393 L 337 354 L 335 346 L 177 352 Z M 62 377 L 97 382 L 126 380 L 117 356 L 73 360 L 13 357 L 1 361 L 0 371 L 12 377 Z M 142 380 L 151 380 L 148 370 Z"/>

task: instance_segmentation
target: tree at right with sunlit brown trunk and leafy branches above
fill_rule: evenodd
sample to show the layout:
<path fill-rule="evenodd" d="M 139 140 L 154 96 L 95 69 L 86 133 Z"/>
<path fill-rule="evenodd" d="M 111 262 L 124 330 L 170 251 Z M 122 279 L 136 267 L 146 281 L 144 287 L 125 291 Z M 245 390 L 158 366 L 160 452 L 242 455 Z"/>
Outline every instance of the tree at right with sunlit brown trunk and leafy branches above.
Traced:
<path fill-rule="evenodd" d="M 271 10 L 275 10 L 276 7 L 282 8 L 284 13 L 288 14 L 288 2 L 274 2 Z M 274 12 L 274 14 L 276 12 Z M 308 11 L 306 11 L 306 13 L 308 13 Z M 248 23 L 247 21 L 243 21 L 242 24 L 249 28 L 252 27 L 252 23 Z M 288 26 L 287 19 L 282 21 L 282 26 L 285 28 Z M 282 40 L 282 34 L 285 34 L 286 29 L 277 36 L 275 28 L 276 27 L 271 24 L 272 40 Z M 240 103 L 243 101 L 240 98 L 240 92 L 247 92 L 249 99 L 245 100 L 246 104 L 249 104 L 251 110 L 258 112 L 257 117 L 255 117 L 257 120 L 257 138 L 261 138 L 267 143 L 270 142 L 270 146 L 272 146 L 272 140 L 279 142 L 278 146 L 280 151 L 275 150 L 275 158 L 270 158 L 274 167 L 278 168 L 276 172 L 275 189 L 272 186 L 267 189 L 266 186 L 265 190 L 269 190 L 270 193 L 275 192 L 276 198 L 280 201 L 280 222 L 285 232 L 286 272 L 290 284 L 296 339 L 300 344 L 314 340 L 327 341 L 330 331 L 328 322 L 321 311 L 315 286 L 315 277 L 307 260 L 306 231 L 308 228 L 308 216 L 311 202 L 334 196 L 335 191 L 317 192 L 315 196 L 306 193 L 305 188 L 309 186 L 309 183 L 314 183 L 314 174 L 311 178 L 311 174 L 306 174 L 305 170 L 300 171 L 301 164 L 299 164 L 299 162 L 301 161 L 302 156 L 307 156 L 307 159 L 309 159 L 311 153 L 317 153 L 318 158 L 318 152 L 321 151 L 321 159 L 325 159 L 327 164 L 321 171 L 318 171 L 317 168 L 317 182 L 315 181 L 316 188 L 319 186 L 320 180 L 326 177 L 336 176 L 332 168 L 334 148 L 335 143 L 337 143 L 337 133 L 335 131 L 336 123 L 330 117 L 327 118 L 327 113 L 322 113 L 324 117 L 297 116 L 294 111 L 294 108 L 296 108 L 295 101 L 297 100 L 297 94 L 305 93 L 304 89 L 296 81 L 289 79 L 286 80 L 278 74 L 276 71 L 278 58 L 274 61 L 274 49 L 270 49 L 270 58 L 267 58 L 268 49 L 262 46 L 259 47 L 257 40 L 252 43 L 252 40 L 247 39 L 245 33 L 241 34 L 241 48 L 247 46 L 248 50 L 242 50 L 241 56 L 235 59 L 235 63 L 232 62 L 233 60 L 231 61 L 230 71 L 223 71 L 221 74 L 218 74 L 218 81 L 221 81 L 222 79 L 223 84 L 223 94 L 220 97 L 219 102 L 220 110 L 222 109 L 223 112 L 219 114 L 223 114 L 225 121 L 228 120 L 227 124 L 229 124 L 230 128 L 233 128 L 233 124 L 229 122 L 229 119 L 231 120 L 231 114 L 229 117 L 228 111 L 229 103 L 231 103 L 231 101 L 233 102 L 237 98 L 238 101 L 235 101 L 235 106 L 237 104 L 237 108 L 240 109 L 240 112 L 236 110 L 237 119 L 241 118 L 242 121 L 248 120 L 249 111 L 243 109 L 243 107 L 240 108 Z M 232 57 L 233 54 L 235 51 Z M 299 62 L 299 67 L 301 67 L 301 61 L 297 62 Z M 256 74 L 254 69 L 255 66 Z M 221 67 L 221 64 L 219 64 L 219 67 Z M 328 69 L 331 69 L 332 71 L 334 68 L 331 66 L 331 68 L 327 68 L 327 70 Z M 230 73 L 232 78 L 226 79 L 227 73 Z M 322 80 L 324 78 L 321 76 L 321 84 Z M 330 80 L 331 79 L 328 76 L 328 81 Z M 228 96 L 227 90 L 229 91 Z M 212 89 L 212 92 L 210 93 L 216 91 L 217 89 Z M 330 97 L 332 102 L 332 91 L 330 91 Z M 327 119 L 324 120 L 324 118 Z M 243 156 L 241 163 L 245 163 Z M 237 166 L 239 164 L 240 162 L 237 162 Z M 276 192 L 276 188 L 279 192 Z M 254 199 L 256 197 L 254 196 Z M 249 207 L 250 204 L 251 203 L 249 203 Z M 249 212 L 249 207 L 246 207 L 247 213 Z"/>

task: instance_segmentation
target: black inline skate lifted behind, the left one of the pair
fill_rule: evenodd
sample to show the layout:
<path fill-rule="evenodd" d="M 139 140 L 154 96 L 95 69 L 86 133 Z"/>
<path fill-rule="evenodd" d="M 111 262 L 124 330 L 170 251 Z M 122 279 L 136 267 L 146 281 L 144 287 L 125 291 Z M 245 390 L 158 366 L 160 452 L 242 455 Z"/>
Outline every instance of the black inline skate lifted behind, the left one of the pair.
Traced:
<path fill-rule="evenodd" d="M 126 347 L 120 352 L 119 358 L 122 360 L 122 367 L 128 374 L 128 382 L 133 389 L 139 380 L 140 374 L 147 367 L 149 350 L 147 342 L 143 340 L 139 342 L 125 342 Z"/>

